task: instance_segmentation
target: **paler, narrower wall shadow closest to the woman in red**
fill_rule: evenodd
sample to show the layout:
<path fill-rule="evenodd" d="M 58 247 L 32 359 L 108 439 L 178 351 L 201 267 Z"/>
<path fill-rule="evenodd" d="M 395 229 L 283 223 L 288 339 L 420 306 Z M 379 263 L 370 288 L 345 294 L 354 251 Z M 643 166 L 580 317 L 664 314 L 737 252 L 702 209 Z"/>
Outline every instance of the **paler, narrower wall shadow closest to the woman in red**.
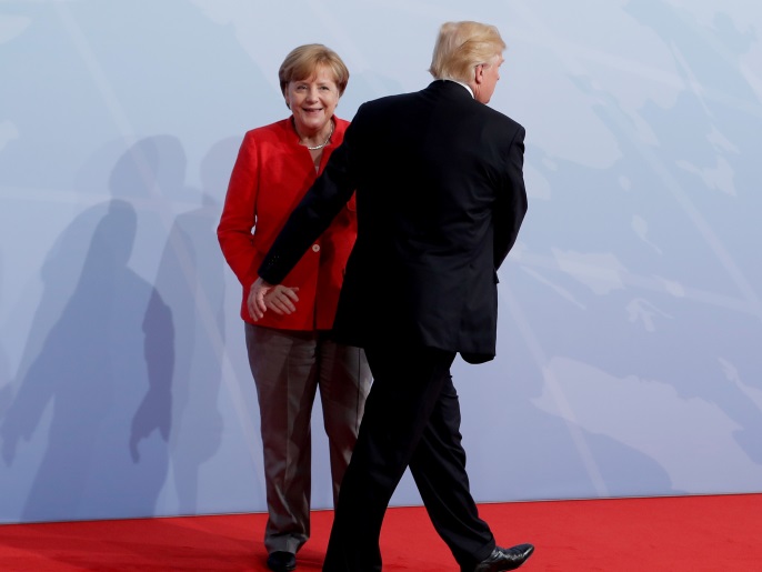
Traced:
<path fill-rule="evenodd" d="M 223 419 L 217 407 L 224 353 L 224 268 L 217 241 L 220 204 L 238 138 L 219 141 L 201 162 L 201 205 L 176 217 L 169 231 L 156 288 L 176 325 L 170 435 L 174 488 L 180 514 L 199 510 L 199 472 L 219 450 Z M 162 193 L 188 200 L 182 178 L 167 181 Z"/>

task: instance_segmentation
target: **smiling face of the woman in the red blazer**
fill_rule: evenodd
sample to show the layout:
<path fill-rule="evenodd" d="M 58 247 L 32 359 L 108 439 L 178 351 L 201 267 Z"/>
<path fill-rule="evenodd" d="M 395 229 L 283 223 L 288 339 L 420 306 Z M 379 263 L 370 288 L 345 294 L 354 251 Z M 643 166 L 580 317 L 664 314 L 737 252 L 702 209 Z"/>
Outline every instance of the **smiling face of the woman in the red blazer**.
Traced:
<path fill-rule="evenodd" d="M 290 81 L 283 96 L 297 129 L 307 134 L 320 131 L 331 119 L 339 103 L 339 87 L 331 69 L 318 66 L 312 77 Z"/>

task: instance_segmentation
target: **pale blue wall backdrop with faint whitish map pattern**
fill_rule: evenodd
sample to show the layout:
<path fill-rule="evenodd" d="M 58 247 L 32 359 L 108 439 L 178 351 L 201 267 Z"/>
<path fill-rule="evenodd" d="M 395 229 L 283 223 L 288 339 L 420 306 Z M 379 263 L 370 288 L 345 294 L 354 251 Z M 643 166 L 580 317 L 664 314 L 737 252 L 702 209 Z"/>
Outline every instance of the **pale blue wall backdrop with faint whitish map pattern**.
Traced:
<path fill-rule="evenodd" d="M 0 522 L 265 510 L 214 234 L 240 140 L 295 46 L 342 56 L 351 119 L 463 19 L 509 44 L 530 198 L 499 355 L 453 371 L 474 495 L 762 491 L 762 4 L 6 0 Z"/>

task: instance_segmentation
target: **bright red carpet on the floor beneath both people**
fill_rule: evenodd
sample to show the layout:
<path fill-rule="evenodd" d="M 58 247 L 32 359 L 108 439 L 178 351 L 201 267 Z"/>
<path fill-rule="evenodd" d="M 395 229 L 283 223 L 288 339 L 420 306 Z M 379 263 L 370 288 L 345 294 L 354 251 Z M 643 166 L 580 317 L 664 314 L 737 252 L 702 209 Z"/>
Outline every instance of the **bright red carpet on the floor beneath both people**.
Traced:
<path fill-rule="evenodd" d="M 531 542 L 527 572 L 762 571 L 762 494 L 480 506 L 503 545 Z M 313 514 L 298 571 L 320 570 L 331 511 Z M 0 525 L 0 570 L 260 571 L 263 514 Z M 390 509 L 384 572 L 458 572 L 422 508 Z"/>

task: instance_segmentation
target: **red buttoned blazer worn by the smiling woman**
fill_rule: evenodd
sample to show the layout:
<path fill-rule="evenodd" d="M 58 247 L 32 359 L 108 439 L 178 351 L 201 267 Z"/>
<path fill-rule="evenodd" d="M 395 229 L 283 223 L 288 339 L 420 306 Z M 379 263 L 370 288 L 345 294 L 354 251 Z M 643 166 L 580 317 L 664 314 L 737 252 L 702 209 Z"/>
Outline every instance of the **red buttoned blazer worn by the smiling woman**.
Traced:
<path fill-rule="evenodd" d="M 333 118 L 331 143 L 319 171 L 342 142 L 348 121 Z M 242 287 L 241 318 L 254 323 L 247 297 L 265 252 L 291 211 L 317 179 L 312 157 L 291 118 L 245 133 L 238 153 L 217 229 L 222 254 Z M 299 287 L 297 311 L 267 312 L 258 325 L 283 330 L 330 330 L 333 327 L 347 259 L 357 238 L 354 197 L 282 281 Z"/>

